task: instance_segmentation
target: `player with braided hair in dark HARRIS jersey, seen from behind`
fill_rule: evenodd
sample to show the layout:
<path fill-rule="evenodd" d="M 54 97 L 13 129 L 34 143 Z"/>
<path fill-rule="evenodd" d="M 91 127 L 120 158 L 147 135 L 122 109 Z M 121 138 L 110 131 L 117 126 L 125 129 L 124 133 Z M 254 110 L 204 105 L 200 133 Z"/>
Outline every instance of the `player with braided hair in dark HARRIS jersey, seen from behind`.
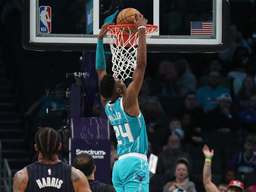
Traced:
<path fill-rule="evenodd" d="M 36 133 L 34 159 L 15 173 L 13 192 L 92 192 L 84 173 L 60 161 L 60 135 L 49 127 Z"/>

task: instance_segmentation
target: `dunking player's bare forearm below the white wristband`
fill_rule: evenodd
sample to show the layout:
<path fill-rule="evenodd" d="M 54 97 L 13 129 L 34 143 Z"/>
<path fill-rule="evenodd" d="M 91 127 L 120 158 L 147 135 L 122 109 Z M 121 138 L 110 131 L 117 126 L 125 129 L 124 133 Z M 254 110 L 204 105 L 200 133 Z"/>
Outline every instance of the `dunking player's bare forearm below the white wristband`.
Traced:
<path fill-rule="evenodd" d="M 139 45 L 138 45 L 138 54 L 137 54 L 137 66 L 140 67 L 147 65 L 147 44 L 146 44 L 146 33 L 145 28 L 139 29 Z"/>

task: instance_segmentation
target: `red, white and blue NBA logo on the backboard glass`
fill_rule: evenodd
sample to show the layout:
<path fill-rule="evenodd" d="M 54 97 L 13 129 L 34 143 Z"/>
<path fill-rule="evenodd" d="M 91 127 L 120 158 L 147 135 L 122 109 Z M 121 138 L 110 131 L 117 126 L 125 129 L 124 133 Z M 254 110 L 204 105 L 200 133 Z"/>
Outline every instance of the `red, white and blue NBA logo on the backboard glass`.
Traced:
<path fill-rule="evenodd" d="M 49 6 L 39 7 L 39 32 L 51 33 L 52 8 Z"/>

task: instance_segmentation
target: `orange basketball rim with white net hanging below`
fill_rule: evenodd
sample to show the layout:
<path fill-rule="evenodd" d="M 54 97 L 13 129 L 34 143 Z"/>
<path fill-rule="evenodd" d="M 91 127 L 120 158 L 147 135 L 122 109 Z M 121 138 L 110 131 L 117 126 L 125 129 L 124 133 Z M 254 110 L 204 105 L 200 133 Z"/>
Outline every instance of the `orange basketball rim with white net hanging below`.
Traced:
<path fill-rule="evenodd" d="M 107 36 L 112 52 L 113 76 L 121 80 L 132 78 L 132 73 L 136 68 L 139 32 L 133 33 L 135 25 L 110 25 L 108 28 Z M 157 26 L 147 25 L 146 38 L 150 38 L 157 30 Z"/>

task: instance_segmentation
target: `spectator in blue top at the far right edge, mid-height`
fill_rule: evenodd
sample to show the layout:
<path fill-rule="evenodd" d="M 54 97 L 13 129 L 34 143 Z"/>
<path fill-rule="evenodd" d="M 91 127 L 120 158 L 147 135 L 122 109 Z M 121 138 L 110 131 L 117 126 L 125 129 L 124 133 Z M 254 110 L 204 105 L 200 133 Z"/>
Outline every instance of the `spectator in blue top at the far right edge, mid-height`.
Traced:
<path fill-rule="evenodd" d="M 242 111 L 239 119 L 244 131 L 256 132 L 256 93 L 250 97 L 250 108 Z"/>

